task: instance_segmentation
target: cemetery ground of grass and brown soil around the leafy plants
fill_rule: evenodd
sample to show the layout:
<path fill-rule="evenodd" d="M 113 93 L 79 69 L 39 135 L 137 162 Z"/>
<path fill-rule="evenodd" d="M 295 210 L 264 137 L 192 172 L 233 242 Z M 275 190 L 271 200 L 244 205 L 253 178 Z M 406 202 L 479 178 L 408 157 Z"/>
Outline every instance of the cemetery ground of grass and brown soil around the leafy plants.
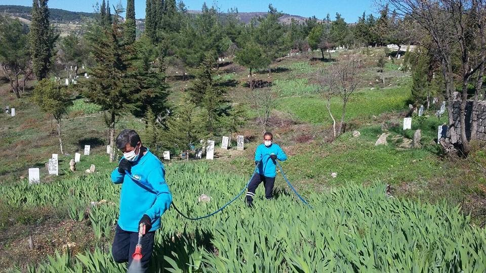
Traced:
<path fill-rule="evenodd" d="M 365 69 L 360 75 L 357 92 L 349 102 L 346 132 L 333 142 L 330 140 L 331 119 L 325 101 L 315 94 L 318 84 L 314 76 L 320 69 L 330 65 L 329 62 L 313 56 L 297 56 L 272 64 L 271 74 L 268 71 L 256 73 L 257 80 L 272 83 L 268 88 L 277 95 L 270 125 L 275 142 L 289 156 L 282 163 L 287 176 L 301 194 L 313 198 L 315 193 L 321 193 L 319 197 L 325 198 L 326 193 L 333 189 L 352 189 L 352 185 L 390 185 L 386 192 L 395 198 L 411 198 L 417 203 L 425 202 L 437 206 L 444 200 L 448 207 L 460 205 L 461 213 L 471 214 L 471 225 L 483 228 L 486 220 L 484 147 L 474 147 L 466 160 L 443 155 L 436 145 L 437 126 L 446 122 L 447 117 L 445 114 L 441 118 L 435 117 L 434 108 L 426 111 L 425 117 L 414 116 L 412 129 L 402 130 L 403 117 L 409 111 L 410 75 L 398 70 L 400 60 L 388 61 L 383 72 L 383 85 L 382 75 L 376 66 L 381 50 L 370 50 Z M 320 53 L 316 53 L 315 57 L 319 55 Z M 182 80 L 178 76 L 182 73 L 180 71 L 181 68 L 177 67 L 169 67 L 167 71 L 172 89 L 170 101 L 174 105 L 181 103 L 181 89 L 191 85 L 191 79 Z M 188 73 L 191 74 L 191 71 Z M 245 94 L 249 92 L 249 88 L 245 84 L 248 81 L 248 71 L 230 62 L 221 66 L 218 73 L 218 77 L 229 86 L 227 98 L 233 103 L 247 104 Z M 83 75 L 84 71 L 80 70 L 79 74 Z M 31 82 L 30 85 L 32 84 L 34 83 Z M 86 184 L 87 181 L 95 189 L 98 184 L 113 187 L 105 174 L 116 166 L 116 162 L 108 162 L 107 128 L 96 105 L 85 102 L 81 97 L 74 102 L 68 117 L 62 121 L 66 155 L 59 155 L 59 176 L 49 176 L 45 163 L 52 153 L 59 153 L 55 127 L 51 130 L 49 116 L 39 111 L 29 99 L 28 93 L 17 100 L 9 93 L 7 83 L 0 85 L 0 92 L 2 105 L 10 105 L 17 111 L 15 117 L 2 115 L 1 188 L 9 189 L 12 185 L 21 183 L 21 180 L 25 183 L 27 170 L 32 167 L 39 167 L 42 183 L 52 184 L 53 187 L 56 183 L 63 183 L 62 181 L 73 181 L 73 187 L 75 183 Z M 340 107 L 339 100 L 333 99 L 331 109 L 335 115 L 339 113 Z M 189 166 L 200 165 L 210 172 L 221 175 L 232 173 L 238 179 L 246 180 L 252 172 L 254 151 L 262 134 L 255 110 L 250 106 L 247 106 L 247 110 L 249 121 L 241 131 L 232 134 L 231 149 L 220 149 L 221 138 L 216 138 L 215 160 L 197 160 Z M 144 123 L 134 117 L 124 116 L 117 123 L 117 130 L 121 128 L 143 131 Z M 415 129 L 422 130 L 422 148 L 419 149 L 411 147 Z M 360 135 L 354 137 L 353 130 L 358 130 Z M 388 145 L 375 146 L 375 141 L 383 132 L 389 133 Z M 245 135 L 245 151 L 236 151 L 236 134 Z M 74 158 L 75 152 L 83 154 L 85 145 L 91 145 L 91 154 L 82 155 L 80 162 L 76 164 L 76 172 L 70 173 L 69 160 Z M 96 165 L 96 174 L 85 173 L 91 164 Z M 184 168 L 184 163 L 177 159 L 165 164 L 174 169 Z M 336 177 L 331 175 L 334 172 Z M 170 182 L 169 180 L 169 185 Z M 210 185 L 214 186 L 213 183 Z M 100 186 L 100 189 L 105 188 L 107 187 Z M 237 187 L 228 190 L 228 196 L 239 190 Z M 258 190 L 257 194 L 261 194 L 261 191 Z M 277 175 L 276 191 L 284 196 L 284 200 L 293 198 L 281 175 Z M 208 192 L 216 194 L 215 189 Z M 187 200 L 174 201 L 196 202 L 198 194 L 205 192 L 190 193 L 190 196 L 184 194 Z M 100 202 L 102 199 L 111 200 L 116 197 L 109 195 L 104 198 L 103 193 L 99 193 L 99 196 L 99 200 L 91 201 Z M 2 199 L 5 198 L 9 197 L 4 195 Z M 117 202 L 117 199 L 113 201 Z M 53 255 L 55 250 L 62 251 L 63 248 L 69 248 L 73 257 L 77 253 L 98 248 L 108 252 L 113 231 L 108 231 L 108 236 L 98 236 L 94 231 L 96 225 L 91 222 L 89 213 L 85 214 L 85 210 L 79 212 L 85 215 L 72 219 L 69 215 L 73 204 L 76 204 L 75 196 L 58 206 L 28 206 L 19 203 L 16 207 L 1 201 L 0 268 L 19 266 L 25 269 L 27 263 L 45 262 L 47 255 Z M 76 206 L 87 208 L 87 204 Z M 304 208 L 299 206 L 298 209 Z M 197 212 L 204 214 L 206 210 L 200 209 Z M 175 213 L 169 211 L 168 214 Z M 174 215 L 167 217 L 174 221 L 180 220 Z M 175 225 L 178 228 L 182 226 Z M 33 250 L 29 247 L 29 240 L 33 240 Z"/>

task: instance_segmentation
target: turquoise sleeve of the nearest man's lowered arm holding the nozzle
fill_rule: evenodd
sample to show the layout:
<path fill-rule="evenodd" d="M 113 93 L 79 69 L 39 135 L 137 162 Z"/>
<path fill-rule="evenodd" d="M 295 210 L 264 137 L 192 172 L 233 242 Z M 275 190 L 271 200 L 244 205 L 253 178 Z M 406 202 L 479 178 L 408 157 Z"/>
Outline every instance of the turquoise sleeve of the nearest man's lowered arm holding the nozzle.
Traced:
<path fill-rule="evenodd" d="M 172 194 L 166 183 L 165 170 L 163 166 L 154 168 L 148 175 L 147 181 L 157 192 L 157 197 L 152 207 L 145 214 L 152 219 L 159 218 L 172 203 Z"/>

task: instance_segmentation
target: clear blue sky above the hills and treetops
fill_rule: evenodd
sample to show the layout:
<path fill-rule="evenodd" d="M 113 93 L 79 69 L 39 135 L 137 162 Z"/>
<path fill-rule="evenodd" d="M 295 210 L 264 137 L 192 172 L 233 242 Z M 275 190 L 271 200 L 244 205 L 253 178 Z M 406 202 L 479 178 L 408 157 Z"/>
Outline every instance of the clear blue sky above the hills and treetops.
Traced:
<path fill-rule="evenodd" d="M 49 7 L 69 11 L 93 12 L 93 5 L 101 0 L 50 0 Z M 110 4 L 116 4 L 118 0 L 111 0 Z M 185 0 L 184 4 L 189 10 L 200 10 L 204 0 Z M 265 12 L 268 10 L 268 4 L 284 13 L 310 17 L 315 15 L 322 19 L 326 14 L 334 18 L 336 12 L 339 12 L 347 22 L 356 22 L 363 11 L 376 13 L 373 0 L 208 0 L 208 6 L 217 4 L 221 11 L 227 11 L 229 8 L 238 8 L 239 12 Z M 126 5 L 126 0 L 121 3 Z M 32 0 L 0 0 L 0 5 L 21 5 L 31 6 Z M 145 17 L 145 0 L 135 0 L 135 14 L 137 18 Z"/>

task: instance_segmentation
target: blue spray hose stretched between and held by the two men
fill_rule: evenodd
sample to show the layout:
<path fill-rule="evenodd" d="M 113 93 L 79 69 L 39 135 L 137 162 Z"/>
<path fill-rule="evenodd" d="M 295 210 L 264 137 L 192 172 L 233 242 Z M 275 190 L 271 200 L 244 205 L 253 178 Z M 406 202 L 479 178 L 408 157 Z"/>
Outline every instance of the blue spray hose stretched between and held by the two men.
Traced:
<path fill-rule="evenodd" d="M 292 189 L 292 191 L 300 198 L 300 200 L 302 200 L 302 202 L 304 204 L 306 204 L 307 206 L 309 206 L 309 208 L 312 209 L 312 206 L 302 197 L 299 195 L 299 193 L 297 192 L 297 190 L 294 188 L 294 186 L 292 186 L 292 184 L 290 183 L 289 179 L 287 178 L 287 176 L 285 175 L 284 173 L 284 169 L 282 169 L 282 166 L 280 166 L 280 163 L 278 163 L 278 160 L 275 160 L 275 163 L 277 164 L 278 168 L 280 169 L 280 172 L 282 173 L 282 176 L 284 177 L 285 181 L 287 182 L 287 184 L 289 185 L 289 187 Z M 227 202 L 226 204 L 224 204 L 224 206 L 222 206 L 221 208 L 219 208 L 218 210 L 210 213 L 210 214 L 207 214 L 207 215 L 204 215 L 204 216 L 200 216 L 200 217 L 196 217 L 196 218 L 192 218 L 192 217 L 189 217 L 187 215 L 185 215 L 184 213 L 182 213 L 178 208 L 177 206 L 174 204 L 174 202 L 172 202 L 172 206 L 174 207 L 174 209 L 177 211 L 177 213 L 179 213 L 182 217 L 186 218 L 186 219 L 189 219 L 189 220 L 200 220 L 200 219 L 204 219 L 204 218 L 207 218 L 207 217 L 210 217 L 210 216 L 213 216 L 214 214 L 222 211 L 224 208 L 226 208 L 229 204 L 233 203 L 236 199 L 238 199 L 243 193 L 245 193 L 246 189 L 248 189 L 248 186 L 250 185 L 252 179 L 253 179 L 253 176 L 255 176 L 255 173 L 257 173 L 257 170 L 258 170 L 258 166 L 260 165 L 260 162 L 258 162 L 258 164 L 256 165 L 255 167 L 255 171 L 253 171 L 253 174 L 252 176 L 250 177 L 250 180 L 248 180 L 248 183 L 247 185 L 245 186 L 245 188 L 243 188 L 239 193 L 238 195 L 236 195 L 233 199 L 231 199 L 229 202 Z M 141 186 L 142 188 L 152 192 L 152 193 L 157 193 L 153 187 L 150 185 L 150 184 L 146 184 L 144 183 L 142 180 L 136 178 L 136 177 L 133 177 L 127 170 L 125 170 L 125 174 L 128 175 L 130 178 L 132 178 L 132 180 L 135 181 L 135 183 L 137 183 L 139 186 Z"/>

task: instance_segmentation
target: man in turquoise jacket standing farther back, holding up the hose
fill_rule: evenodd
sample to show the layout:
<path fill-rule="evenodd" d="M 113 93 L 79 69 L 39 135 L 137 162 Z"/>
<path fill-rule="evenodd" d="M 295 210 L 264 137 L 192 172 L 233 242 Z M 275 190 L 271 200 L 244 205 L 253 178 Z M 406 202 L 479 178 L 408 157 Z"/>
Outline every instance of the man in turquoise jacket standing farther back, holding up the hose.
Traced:
<path fill-rule="evenodd" d="M 247 204 L 249 206 L 253 206 L 255 190 L 262 182 L 265 187 L 265 197 L 272 199 L 276 176 L 276 160 L 287 160 L 287 155 L 285 155 L 280 146 L 272 142 L 273 134 L 266 132 L 263 134 L 263 144 L 260 144 L 255 151 L 255 165 L 258 165 L 258 171 L 250 181 L 250 185 L 248 185 Z"/>

